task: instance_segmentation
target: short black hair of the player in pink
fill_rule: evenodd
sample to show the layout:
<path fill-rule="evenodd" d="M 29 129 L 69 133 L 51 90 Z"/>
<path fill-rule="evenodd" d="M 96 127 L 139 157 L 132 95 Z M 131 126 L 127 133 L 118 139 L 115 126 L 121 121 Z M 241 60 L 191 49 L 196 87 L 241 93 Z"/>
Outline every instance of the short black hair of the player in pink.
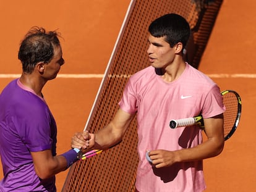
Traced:
<path fill-rule="evenodd" d="M 148 27 L 152 36 L 164 37 L 171 48 L 179 42 L 185 48 L 190 36 L 189 23 L 181 15 L 166 14 L 154 20 Z"/>

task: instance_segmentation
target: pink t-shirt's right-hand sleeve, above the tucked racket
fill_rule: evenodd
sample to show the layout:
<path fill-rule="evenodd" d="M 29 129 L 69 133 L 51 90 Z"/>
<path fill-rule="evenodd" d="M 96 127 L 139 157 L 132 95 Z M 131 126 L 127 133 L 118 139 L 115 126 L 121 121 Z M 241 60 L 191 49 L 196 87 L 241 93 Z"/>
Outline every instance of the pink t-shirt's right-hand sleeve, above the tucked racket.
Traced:
<path fill-rule="evenodd" d="M 203 103 L 202 115 L 203 118 L 210 118 L 222 114 L 225 111 L 223 105 L 223 97 L 220 93 L 220 88 L 215 85 L 207 93 Z"/>

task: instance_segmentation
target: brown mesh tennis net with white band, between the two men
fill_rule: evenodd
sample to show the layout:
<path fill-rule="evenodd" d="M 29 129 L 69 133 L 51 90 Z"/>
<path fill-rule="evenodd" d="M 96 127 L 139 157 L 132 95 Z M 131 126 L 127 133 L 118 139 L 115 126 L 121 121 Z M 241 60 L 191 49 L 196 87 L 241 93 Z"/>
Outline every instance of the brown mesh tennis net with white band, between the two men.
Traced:
<path fill-rule="evenodd" d="M 222 1 L 140 0 L 130 2 L 115 49 L 109 60 L 86 128 L 103 128 L 116 114 L 118 102 L 130 75 L 148 67 L 148 25 L 168 13 L 182 15 L 190 23 L 192 36 L 186 60 L 197 68 Z M 135 191 L 137 123 L 130 123 L 122 142 L 108 151 L 70 167 L 62 191 Z"/>

